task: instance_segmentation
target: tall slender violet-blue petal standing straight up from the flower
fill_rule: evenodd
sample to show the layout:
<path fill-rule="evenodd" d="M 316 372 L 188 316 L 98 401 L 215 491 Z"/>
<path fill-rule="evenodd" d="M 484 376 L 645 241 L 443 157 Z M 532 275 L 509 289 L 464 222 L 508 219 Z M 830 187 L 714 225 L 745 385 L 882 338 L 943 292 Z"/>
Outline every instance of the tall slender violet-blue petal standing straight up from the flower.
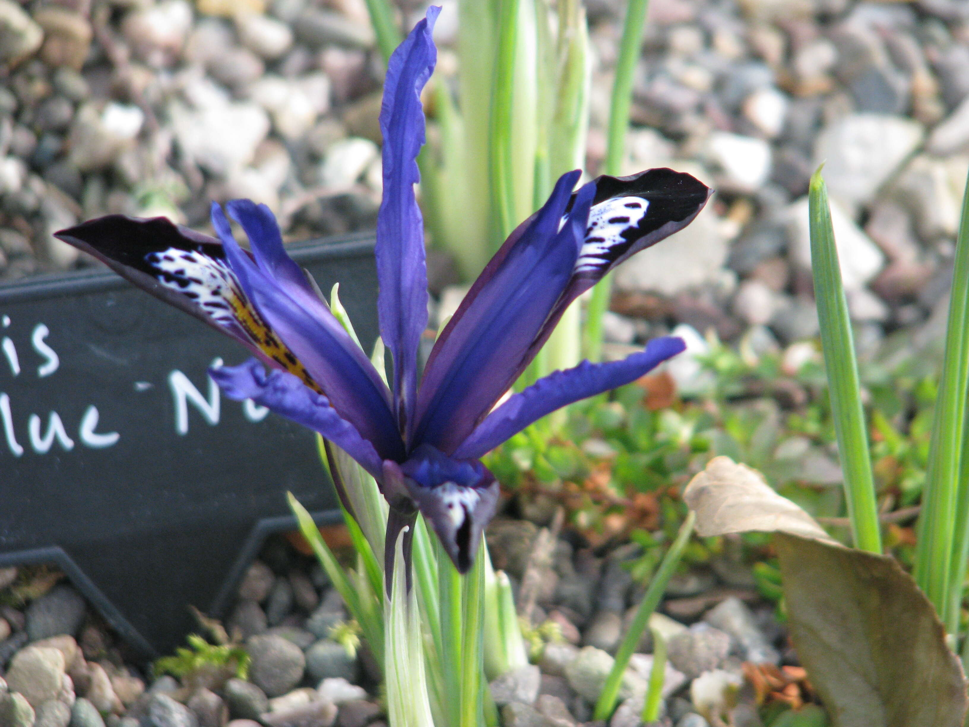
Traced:
<path fill-rule="evenodd" d="M 393 51 L 380 111 L 384 198 L 377 215 L 377 305 L 381 336 L 393 355 L 398 423 L 414 416 L 418 346 L 427 327 L 423 218 L 414 185 L 421 178 L 417 157 L 424 142 L 421 91 L 437 61 L 431 31 L 440 12 L 440 8 L 429 8 L 407 40 Z"/>

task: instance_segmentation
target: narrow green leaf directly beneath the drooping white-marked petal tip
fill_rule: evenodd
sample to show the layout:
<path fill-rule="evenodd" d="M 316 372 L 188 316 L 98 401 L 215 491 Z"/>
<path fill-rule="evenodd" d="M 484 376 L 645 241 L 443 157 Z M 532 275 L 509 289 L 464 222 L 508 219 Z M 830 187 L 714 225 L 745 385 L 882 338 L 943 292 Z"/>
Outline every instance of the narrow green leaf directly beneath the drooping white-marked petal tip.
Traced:
<path fill-rule="evenodd" d="M 475 562 L 464 577 L 464 624 L 460 661 L 460 727 L 481 727 L 484 721 L 482 695 L 482 633 L 485 616 L 485 536 Z M 454 571 L 453 565 L 446 564 Z M 455 571 L 456 573 L 456 571 Z"/>

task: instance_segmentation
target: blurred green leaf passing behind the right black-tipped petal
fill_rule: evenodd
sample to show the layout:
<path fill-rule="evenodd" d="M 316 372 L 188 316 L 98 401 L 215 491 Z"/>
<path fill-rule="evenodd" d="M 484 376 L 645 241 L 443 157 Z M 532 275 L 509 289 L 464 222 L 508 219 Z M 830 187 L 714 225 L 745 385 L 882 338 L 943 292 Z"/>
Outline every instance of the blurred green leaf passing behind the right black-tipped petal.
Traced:
<path fill-rule="evenodd" d="M 622 157 L 626 149 L 626 132 L 629 130 L 629 109 L 633 100 L 633 75 L 640 58 L 642 28 L 646 23 L 648 0 L 629 0 L 626 20 L 622 27 L 619 57 L 615 62 L 615 79 L 612 81 L 612 103 L 609 117 L 609 138 L 606 146 L 606 174 L 617 175 L 622 169 Z M 609 310 L 612 293 L 612 275 L 606 275 L 595 288 L 585 319 L 585 352 L 589 361 L 602 361 L 603 316 Z"/>

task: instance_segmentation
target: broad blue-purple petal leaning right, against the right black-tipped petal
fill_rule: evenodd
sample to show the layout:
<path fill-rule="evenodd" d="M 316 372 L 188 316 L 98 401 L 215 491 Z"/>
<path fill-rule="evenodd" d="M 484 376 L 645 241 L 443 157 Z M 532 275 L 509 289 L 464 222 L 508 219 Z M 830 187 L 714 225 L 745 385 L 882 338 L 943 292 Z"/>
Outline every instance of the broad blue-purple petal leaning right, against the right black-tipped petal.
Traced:
<path fill-rule="evenodd" d="M 525 353 L 571 279 L 578 257 L 585 229 L 579 205 L 562 224 L 577 179 L 578 172 L 559 179 L 473 303 L 454 314 L 449 334 L 439 339 L 424 368 L 412 444 L 426 442 L 453 452 L 528 364 Z"/>

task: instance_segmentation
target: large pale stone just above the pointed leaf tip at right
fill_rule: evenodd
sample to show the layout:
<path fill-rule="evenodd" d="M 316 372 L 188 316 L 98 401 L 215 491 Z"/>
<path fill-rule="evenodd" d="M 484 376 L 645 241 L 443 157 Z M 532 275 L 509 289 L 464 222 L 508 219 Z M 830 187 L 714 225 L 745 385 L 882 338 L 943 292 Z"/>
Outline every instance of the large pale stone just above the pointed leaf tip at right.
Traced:
<path fill-rule="evenodd" d="M 814 145 L 828 190 L 848 205 L 867 205 L 922 143 L 922 124 L 903 116 L 852 113 L 828 124 Z"/>

